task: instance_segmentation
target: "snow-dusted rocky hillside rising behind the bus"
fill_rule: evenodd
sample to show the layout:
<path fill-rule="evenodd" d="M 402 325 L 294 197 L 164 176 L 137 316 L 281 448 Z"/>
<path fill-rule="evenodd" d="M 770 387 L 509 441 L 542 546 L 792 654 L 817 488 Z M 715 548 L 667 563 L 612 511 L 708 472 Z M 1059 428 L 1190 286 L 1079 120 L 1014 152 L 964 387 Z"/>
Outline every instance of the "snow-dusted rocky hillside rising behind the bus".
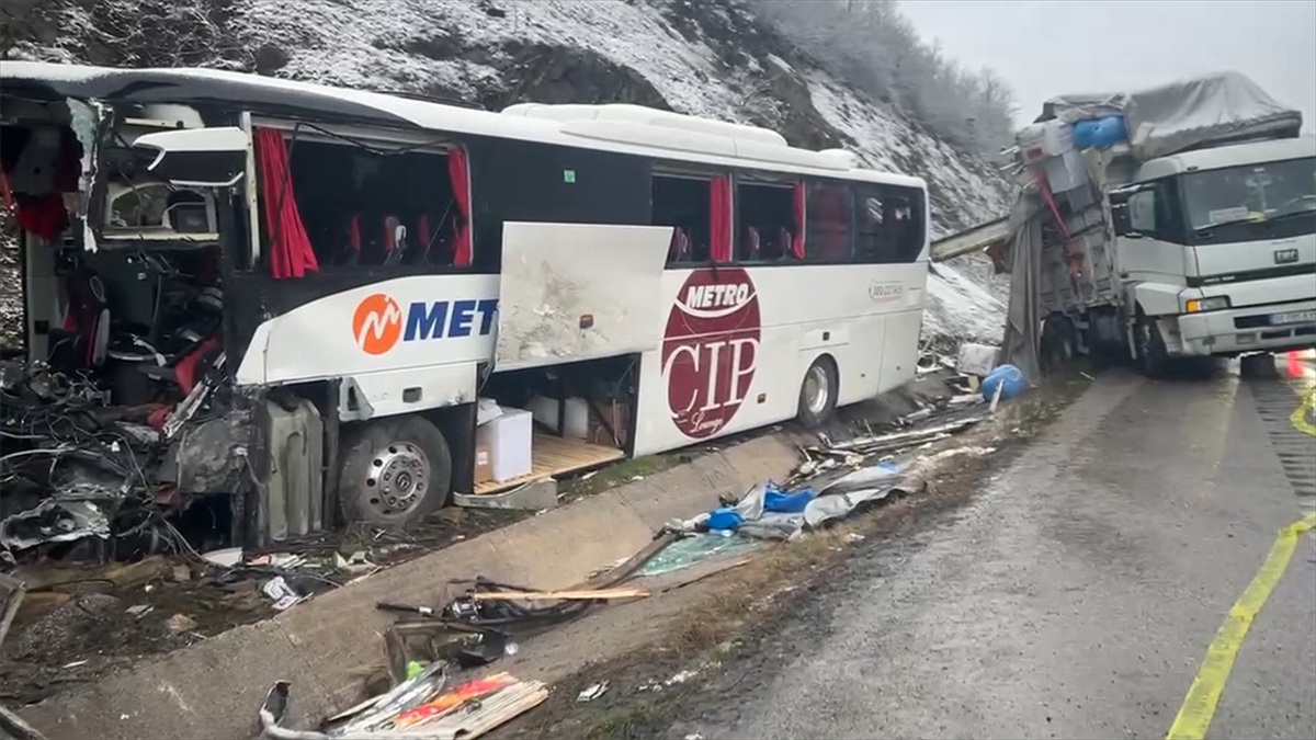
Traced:
<path fill-rule="evenodd" d="M 14 55 L 255 70 L 495 109 L 638 103 L 770 126 L 797 146 L 844 146 L 920 175 L 933 237 L 1005 209 L 990 166 L 828 75 L 734 0 L 51 0 L 32 13 Z M 150 13 L 163 17 L 141 22 Z M 1000 302 L 954 275 L 932 278 L 928 328 L 994 337 Z"/>

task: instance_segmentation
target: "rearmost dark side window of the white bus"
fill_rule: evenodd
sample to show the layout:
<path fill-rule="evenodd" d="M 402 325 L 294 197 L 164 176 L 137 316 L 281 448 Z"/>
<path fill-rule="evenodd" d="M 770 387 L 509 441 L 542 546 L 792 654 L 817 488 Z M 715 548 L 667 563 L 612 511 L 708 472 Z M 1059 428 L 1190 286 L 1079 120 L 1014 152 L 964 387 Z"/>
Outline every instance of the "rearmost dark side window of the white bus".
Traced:
<path fill-rule="evenodd" d="M 857 184 L 854 196 L 855 262 L 913 262 L 923 250 L 923 194 L 908 187 Z"/>

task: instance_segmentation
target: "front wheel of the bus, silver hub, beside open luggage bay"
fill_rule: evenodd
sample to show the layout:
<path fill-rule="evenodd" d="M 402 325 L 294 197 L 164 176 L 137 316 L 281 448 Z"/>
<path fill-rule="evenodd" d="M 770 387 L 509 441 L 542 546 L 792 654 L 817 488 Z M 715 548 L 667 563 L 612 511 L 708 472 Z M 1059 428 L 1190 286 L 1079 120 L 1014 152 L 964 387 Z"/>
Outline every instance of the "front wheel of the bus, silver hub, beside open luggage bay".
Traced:
<path fill-rule="evenodd" d="M 338 499 L 343 520 L 401 529 L 447 502 L 453 456 L 420 416 L 370 421 L 345 445 Z"/>

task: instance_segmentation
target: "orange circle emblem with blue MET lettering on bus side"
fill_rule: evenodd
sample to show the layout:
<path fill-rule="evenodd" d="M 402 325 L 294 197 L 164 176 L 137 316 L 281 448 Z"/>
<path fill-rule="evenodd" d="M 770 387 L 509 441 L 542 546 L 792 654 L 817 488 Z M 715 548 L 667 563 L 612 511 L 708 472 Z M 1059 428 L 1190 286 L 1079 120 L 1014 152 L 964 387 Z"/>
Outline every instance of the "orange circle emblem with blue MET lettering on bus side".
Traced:
<path fill-rule="evenodd" d="M 497 299 L 412 302 L 403 311 L 391 296 L 376 292 L 357 305 L 351 332 L 366 354 L 386 354 L 399 342 L 445 337 L 487 336 L 494 330 Z"/>

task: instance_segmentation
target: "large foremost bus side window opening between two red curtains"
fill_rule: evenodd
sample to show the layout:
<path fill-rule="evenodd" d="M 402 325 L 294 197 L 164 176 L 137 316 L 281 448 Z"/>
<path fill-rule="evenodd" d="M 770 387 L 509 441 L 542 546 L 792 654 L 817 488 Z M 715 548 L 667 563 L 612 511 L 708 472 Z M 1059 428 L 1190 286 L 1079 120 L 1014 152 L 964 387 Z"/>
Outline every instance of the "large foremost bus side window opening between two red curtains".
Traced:
<path fill-rule="evenodd" d="M 291 196 L 321 269 L 468 259 L 449 155 L 304 140 L 290 149 Z"/>

